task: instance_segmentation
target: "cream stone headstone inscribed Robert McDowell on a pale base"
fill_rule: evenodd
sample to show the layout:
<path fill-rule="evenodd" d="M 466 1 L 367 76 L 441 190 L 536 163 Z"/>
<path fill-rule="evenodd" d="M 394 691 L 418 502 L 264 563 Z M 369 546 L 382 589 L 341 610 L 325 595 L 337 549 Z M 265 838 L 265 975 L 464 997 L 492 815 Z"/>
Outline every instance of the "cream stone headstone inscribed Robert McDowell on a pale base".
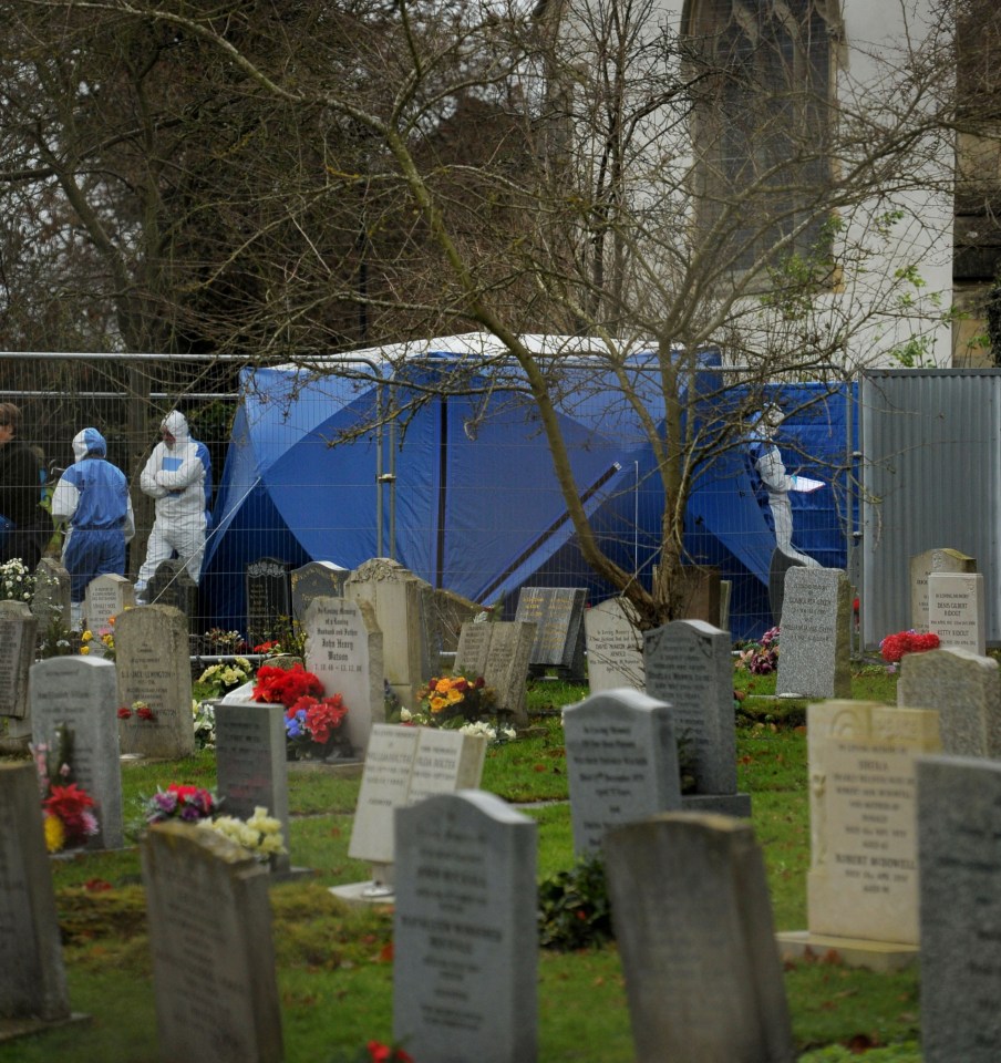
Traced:
<path fill-rule="evenodd" d="M 911 962 L 918 943 L 915 762 L 939 750 L 937 713 L 876 702 L 807 709 L 808 932 L 783 951 L 836 950 L 876 969 Z"/>

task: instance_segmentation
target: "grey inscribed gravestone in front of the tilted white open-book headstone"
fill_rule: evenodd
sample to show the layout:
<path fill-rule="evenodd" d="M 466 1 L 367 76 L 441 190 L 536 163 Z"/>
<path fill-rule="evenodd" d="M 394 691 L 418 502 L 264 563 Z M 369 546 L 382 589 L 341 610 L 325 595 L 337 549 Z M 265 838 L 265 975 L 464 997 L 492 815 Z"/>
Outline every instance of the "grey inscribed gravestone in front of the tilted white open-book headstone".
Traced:
<path fill-rule="evenodd" d="M 415 1060 L 534 1063 L 536 824 L 493 794 L 396 812 L 393 1035 Z"/>

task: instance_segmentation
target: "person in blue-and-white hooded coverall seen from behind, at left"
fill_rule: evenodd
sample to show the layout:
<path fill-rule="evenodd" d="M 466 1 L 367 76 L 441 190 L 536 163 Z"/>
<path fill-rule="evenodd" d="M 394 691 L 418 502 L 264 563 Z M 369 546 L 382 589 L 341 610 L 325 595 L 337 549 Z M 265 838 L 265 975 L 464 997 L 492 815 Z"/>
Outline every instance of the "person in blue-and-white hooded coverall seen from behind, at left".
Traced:
<path fill-rule="evenodd" d="M 70 574 L 70 601 L 79 621 L 87 584 L 97 576 L 125 575 L 125 544 L 135 535 L 125 474 L 105 461 L 107 443 L 96 429 L 73 437 L 73 465 L 52 493 L 52 516 L 70 525 L 63 565 Z"/>

